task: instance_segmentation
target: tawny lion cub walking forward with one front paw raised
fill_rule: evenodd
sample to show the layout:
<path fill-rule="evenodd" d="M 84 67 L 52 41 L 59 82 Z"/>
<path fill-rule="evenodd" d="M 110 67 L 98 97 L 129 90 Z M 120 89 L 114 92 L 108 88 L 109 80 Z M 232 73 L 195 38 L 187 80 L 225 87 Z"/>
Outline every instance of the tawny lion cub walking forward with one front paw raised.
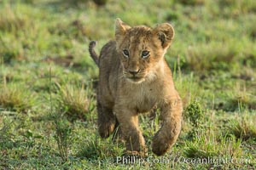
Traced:
<path fill-rule="evenodd" d="M 160 108 L 162 125 L 154 135 L 153 152 L 161 156 L 176 142 L 181 130 L 182 101 L 172 81 L 164 55 L 174 30 L 164 23 L 128 26 L 115 22 L 115 40 L 108 42 L 100 56 L 90 42 L 90 55 L 99 66 L 97 90 L 98 128 L 108 138 L 116 127 L 125 139 L 126 153 L 145 156 L 147 149 L 139 128 L 138 114 Z"/>

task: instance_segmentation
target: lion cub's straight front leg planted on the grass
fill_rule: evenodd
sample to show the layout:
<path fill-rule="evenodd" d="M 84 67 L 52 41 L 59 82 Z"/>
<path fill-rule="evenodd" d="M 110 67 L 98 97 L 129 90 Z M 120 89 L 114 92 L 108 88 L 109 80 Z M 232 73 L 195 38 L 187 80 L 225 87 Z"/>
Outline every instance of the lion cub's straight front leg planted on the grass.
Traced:
<path fill-rule="evenodd" d="M 138 126 L 137 111 L 130 111 L 124 106 L 115 106 L 114 113 L 125 139 L 126 153 L 128 155 L 145 156 L 147 149 L 143 134 Z"/>

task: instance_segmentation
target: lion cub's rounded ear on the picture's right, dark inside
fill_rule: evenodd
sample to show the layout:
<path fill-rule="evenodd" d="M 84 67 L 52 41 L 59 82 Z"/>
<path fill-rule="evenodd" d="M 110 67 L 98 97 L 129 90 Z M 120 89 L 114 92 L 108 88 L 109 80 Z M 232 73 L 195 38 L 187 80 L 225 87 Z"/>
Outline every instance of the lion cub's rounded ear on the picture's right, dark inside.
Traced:
<path fill-rule="evenodd" d="M 174 29 L 168 24 L 160 24 L 154 28 L 154 35 L 160 39 L 163 48 L 169 48 L 174 37 Z"/>

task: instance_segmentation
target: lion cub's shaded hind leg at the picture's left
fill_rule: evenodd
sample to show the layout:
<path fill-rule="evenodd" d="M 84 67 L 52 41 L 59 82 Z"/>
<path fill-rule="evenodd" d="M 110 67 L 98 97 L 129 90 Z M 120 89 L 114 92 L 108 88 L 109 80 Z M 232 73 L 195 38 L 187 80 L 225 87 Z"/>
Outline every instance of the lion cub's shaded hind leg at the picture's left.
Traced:
<path fill-rule="evenodd" d="M 97 103 L 98 112 L 98 131 L 102 138 L 108 138 L 113 133 L 116 118 L 113 116 L 113 110 Z"/>

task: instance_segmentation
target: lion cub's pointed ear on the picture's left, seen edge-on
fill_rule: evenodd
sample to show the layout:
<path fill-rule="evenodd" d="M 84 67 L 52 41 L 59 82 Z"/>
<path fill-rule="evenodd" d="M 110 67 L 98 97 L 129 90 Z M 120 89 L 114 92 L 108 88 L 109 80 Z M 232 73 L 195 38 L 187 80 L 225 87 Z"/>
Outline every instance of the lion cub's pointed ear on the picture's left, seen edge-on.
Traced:
<path fill-rule="evenodd" d="M 122 41 L 123 37 L 125 36 L 125 32 L 129 30 L 131 26 L 126 25 L 122 20 L 119 18 L 115 20 L 115 40 L 117 42 Z"/>

